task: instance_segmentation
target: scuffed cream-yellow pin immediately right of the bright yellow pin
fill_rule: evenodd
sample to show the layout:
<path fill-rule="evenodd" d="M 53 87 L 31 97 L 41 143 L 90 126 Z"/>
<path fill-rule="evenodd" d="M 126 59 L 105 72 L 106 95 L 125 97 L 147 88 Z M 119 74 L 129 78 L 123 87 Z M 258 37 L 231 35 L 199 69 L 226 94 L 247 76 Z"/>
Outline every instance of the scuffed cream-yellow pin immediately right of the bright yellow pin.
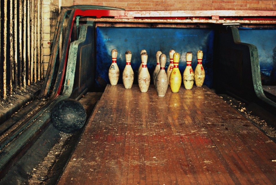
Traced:
<path fill-rule="evenodd" d="M 193 87 L 194 74 L 193 74 L 193 69 L 191 65 L 192 57 L 193 57 L 193 54 L 191 52 L 186 53 L 187 66 L 183 73 L 183 83 L 184 83 L 185 89 L 191 89 Z"/>

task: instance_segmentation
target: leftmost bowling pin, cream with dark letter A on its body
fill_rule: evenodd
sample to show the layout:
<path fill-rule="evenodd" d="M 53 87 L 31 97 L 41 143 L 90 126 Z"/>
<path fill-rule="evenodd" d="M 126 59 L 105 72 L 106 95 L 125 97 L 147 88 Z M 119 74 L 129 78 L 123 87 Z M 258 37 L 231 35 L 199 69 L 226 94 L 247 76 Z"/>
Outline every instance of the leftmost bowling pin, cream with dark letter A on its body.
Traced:
<path fill-rule="evenodd" d="M 117 50 L 112 49 L 111 56 L 112 56 L 112 64 L 110 65 L 108 71 L 108 77 L 111 85 L 117 85 L 119 80 L 120 71 L 117 65 Z"/>

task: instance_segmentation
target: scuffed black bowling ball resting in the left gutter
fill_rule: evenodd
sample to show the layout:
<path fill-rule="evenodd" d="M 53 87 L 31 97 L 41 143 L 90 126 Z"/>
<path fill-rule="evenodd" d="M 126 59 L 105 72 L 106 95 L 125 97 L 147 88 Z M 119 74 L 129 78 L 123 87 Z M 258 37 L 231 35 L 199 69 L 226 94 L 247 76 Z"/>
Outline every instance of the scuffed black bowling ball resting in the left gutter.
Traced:
<path fill-rule="evenodd" d="M 64 99 L 56 103 L 52 110 L 53 125 L 60 131 L 72 133 L 83 127 L 86 112 L 83 105 L 74 99 Z"/>

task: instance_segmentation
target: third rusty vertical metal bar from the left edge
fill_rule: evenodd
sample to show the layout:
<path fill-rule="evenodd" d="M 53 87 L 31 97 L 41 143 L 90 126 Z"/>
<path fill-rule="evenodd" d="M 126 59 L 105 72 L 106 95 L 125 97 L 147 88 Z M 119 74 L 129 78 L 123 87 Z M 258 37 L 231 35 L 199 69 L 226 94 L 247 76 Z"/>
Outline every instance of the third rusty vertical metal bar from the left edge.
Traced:
<path fill-rule="evenodd" d="M 17 0 L 14 1 L 14 85 L 17 88 Z"/>

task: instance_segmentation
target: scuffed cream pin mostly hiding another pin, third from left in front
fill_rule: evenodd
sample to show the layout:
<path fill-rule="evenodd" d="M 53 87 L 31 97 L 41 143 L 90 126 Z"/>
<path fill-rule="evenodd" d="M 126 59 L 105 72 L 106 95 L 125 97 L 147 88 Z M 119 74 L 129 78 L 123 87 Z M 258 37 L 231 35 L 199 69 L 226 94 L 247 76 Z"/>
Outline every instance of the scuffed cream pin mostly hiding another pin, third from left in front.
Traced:
<path fill-rule="evenodd" d="M 150 86 L 150 73 L 147 69 L 147 53 L 141 54 L 142 68 L 138 75 L 138 85 L 142 93 L 146 93 Z"/>

